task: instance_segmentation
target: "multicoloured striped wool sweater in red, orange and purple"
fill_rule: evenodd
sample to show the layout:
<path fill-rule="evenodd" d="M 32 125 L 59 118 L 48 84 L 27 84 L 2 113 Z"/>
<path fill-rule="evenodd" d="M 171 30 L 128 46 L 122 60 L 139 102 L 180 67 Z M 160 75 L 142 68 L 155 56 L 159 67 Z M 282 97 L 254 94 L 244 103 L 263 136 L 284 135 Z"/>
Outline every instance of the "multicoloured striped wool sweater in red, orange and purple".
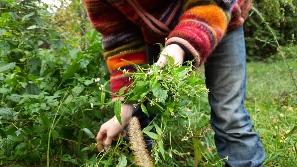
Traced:
<path fill-rule="evenodd" d="M 111 92 L 132 80 L 118 68 L 135 71 L 146 63 L 146 44 L 176 43 L 196 65 L 206 61 L 225 33 L 243 24 L 250 0 L 84 0 L 94 27 L 103 35 Z M 232 14 L 231 14 L 232 13 Z"/>

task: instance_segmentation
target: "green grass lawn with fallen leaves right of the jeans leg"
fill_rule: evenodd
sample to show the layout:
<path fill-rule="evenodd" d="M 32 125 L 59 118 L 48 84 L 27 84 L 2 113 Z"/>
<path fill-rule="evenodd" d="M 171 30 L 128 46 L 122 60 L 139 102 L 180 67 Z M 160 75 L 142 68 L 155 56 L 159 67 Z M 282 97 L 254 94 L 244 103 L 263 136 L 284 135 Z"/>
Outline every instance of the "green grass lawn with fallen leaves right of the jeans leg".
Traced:
<path fill-rule="evenodd" d="M 297 60 L 289 60 L 289 64 L 296 79 Z M 259 132 L 266 150 L 264 166 L 297 166 L 296 94 L 296 87 L 284 61 L 248 62 L 245 106 L 254 122 L 254 131 Z M 206 102 L 202 103 L 201 105 L 208 105 Z M 210 107 L 204 106 L 204 109 L 200 110 L 200 115 L 201 113 L 205 113 L 209 118 Z M 197 122 L 203 121 L 199 118 Z M 285 138 L 290 131 L 292 134 Z M 214 164 L 219 157 L 216 154 L 213 134 L 206 135 L 202 141 L 206 143 L 208 152 L 204 156 Z M 209 163 L 201 164 L 204 165 L 212 166 Z M 224 163 L 220 162 L 217 166 L 224 166 Z"/>

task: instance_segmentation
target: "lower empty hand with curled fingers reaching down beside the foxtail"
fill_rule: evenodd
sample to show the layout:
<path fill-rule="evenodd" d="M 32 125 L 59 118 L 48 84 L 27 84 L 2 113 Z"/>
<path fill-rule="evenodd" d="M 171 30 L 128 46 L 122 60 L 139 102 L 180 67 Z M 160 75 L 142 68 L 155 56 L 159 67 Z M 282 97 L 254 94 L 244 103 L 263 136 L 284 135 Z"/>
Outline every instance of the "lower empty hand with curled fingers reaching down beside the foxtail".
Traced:
<path fill-rule="evenodd" d="M 115 116 L 101 125 L 96 137 L 99 152 L 103 149 L 102 143 L 106 146 L 110 146 L 112 140 L 118 140 L 120 134 L 123 137 L 126 136 L 126 131 L 123 129 L 128 125 L 129 120 L 132 117 L 133 104 L 129 103 L 122 105 L 121 111 L 120 116 L 122 119 L 122 125 L 120 125 Z"/>

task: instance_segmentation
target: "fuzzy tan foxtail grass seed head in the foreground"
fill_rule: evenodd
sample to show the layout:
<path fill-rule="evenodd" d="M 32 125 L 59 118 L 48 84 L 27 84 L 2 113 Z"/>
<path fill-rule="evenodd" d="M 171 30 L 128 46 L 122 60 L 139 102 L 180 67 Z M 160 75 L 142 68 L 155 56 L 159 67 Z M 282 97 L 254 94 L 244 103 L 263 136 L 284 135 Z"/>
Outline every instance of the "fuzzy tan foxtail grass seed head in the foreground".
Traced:
<path fill-rule="evenodd" d="M 129 139 L 136 165 L 141 167 L 153 167 L 153 161 L 149 156 L 149 151 L 146 149 L 140 123 L 138 118 L 132 117 L 129 121 Z"/>

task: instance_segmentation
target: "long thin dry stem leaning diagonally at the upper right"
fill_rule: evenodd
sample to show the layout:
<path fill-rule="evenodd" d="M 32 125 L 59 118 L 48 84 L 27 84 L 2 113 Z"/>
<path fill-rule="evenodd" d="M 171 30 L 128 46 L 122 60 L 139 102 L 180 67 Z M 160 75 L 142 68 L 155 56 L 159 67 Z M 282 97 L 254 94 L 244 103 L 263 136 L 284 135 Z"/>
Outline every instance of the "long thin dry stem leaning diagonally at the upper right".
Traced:
<path fill-rule="evenodd" d="M 268 25 L 268 23 L 265 22 L 265 19 L 264 19 L 264 17 L 262 16 L 262 14 L 261 14 L 261 13 L 260 13 L 260 12 L 253 6 L 253 5 L 251 5 L 251 8 L 252 8 L 252 10 L 256 11 L 256 13 L 257 13 L 257 14 L 260 16 L 260 18 L 264 21 L 264 24 L 267 26 L 267 28 L 268 28 L 269 31 L 271 32 L 271 34 L 272 34 L 272 36 L 273 36 L 273 38 L 274 38 L 274 41 L 275 41 L 275 42 L 277 43 L 277 45 L 278 45 L 279 52 L 281 53 L 282 58 L 283 58 L 284 61 L 286 62 L 286 65 L 287 65 L 287 67 L 288 67 L 288 69 L 289 69 L 291 78 L 292 78 L 293 83 L 294 83 L 294 85 L 295 85 L 295 87 L 296 87 L 296 90 L 297 90 L 297 83 L 296 83 L 295 78 L 294 78 L 294 76 L 293 76 L 292 69 L 291 69 L 291 67 L 290 67 L 290 65 L 289 65 L 289 63 L 288 63 L 288 61 L 287 61 L 287 57 L 286 57 L 285 54 L 282 52 L 282 48 L 281 48 L 281 46 L 279 45 L 278 40 L 277 40 L 277 38 L 276 38 L 274 32 L 272 31 L 272 28 Z"/>

